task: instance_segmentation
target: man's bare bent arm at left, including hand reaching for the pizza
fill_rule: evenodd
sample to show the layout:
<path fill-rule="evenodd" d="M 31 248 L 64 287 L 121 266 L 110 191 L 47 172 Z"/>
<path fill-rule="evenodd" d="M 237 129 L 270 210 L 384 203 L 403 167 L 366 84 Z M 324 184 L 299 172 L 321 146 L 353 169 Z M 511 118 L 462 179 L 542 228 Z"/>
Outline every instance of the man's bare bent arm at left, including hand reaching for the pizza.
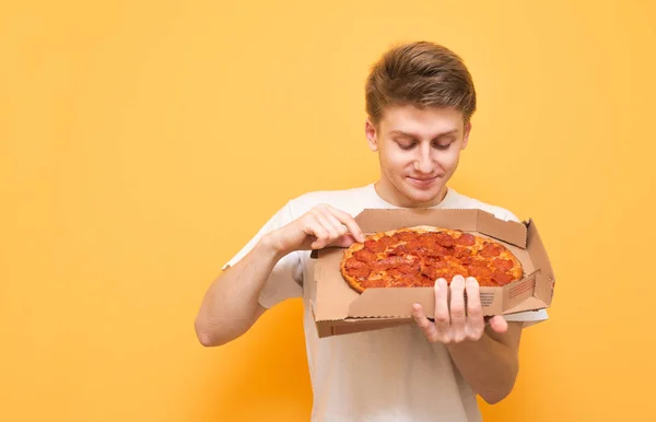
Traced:
<path fill-rule="evenodd" d="M 224 271 L 206 293 L 196 335 L 201 344 L 221 345 L 244 335 L 265 313 L 258 303 L 276 263 L 294 250 L 330 245 L 350 246 L 364 236 L 355 220 L 329 206 L 313 208 L 288 225 L 265 234 L 234 267 Z"/>

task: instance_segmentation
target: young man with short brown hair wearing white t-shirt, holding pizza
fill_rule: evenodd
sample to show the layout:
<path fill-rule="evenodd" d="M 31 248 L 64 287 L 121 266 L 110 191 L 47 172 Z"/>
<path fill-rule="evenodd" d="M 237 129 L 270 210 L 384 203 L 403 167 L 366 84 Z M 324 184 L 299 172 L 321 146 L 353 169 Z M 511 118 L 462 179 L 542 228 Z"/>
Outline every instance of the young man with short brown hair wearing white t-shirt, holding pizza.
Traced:
<path fill-rule="evenodd" d="M 494 403 L 511 392 L 522 329 L 546 319 L 544 310 L 485 324 L 478 283 L 459 276 L 450 285 L 436 280 L 434 323 L 414 305 L 415 325 L 319 339 L 308 306 L 315 294 L 309 250 L 362 242 L 353 215 L 365 208 L 478 208 L 516 220 L 446 186 L 475 109 L 471 77 L 450 50 L 413 43 L 387 51 L 366 82 L 365 134 L 380 178 L 306 194 L 279 210 L 207 292 L 196 320 L 200 342 L 236 339 L 267 308 L 301 296 L 313 421 L 479 421 L 476 395 Z"/>

